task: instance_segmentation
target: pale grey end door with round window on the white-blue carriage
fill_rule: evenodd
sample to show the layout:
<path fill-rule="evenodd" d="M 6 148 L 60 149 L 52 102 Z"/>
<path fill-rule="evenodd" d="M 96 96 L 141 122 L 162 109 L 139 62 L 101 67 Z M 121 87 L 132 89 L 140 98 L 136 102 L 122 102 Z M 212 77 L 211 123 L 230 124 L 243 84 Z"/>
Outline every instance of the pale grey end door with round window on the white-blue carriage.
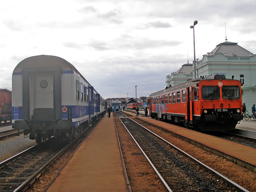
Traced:
<path fill-rule="evenodd" d="M 33 81 L 34 78 L 34 81 Z M 33 119 L 54 119 L 53 74 L 34 74 L 30 76 L 30 113 Z M 44 117 L 45 116 L 45 117 Z"/>

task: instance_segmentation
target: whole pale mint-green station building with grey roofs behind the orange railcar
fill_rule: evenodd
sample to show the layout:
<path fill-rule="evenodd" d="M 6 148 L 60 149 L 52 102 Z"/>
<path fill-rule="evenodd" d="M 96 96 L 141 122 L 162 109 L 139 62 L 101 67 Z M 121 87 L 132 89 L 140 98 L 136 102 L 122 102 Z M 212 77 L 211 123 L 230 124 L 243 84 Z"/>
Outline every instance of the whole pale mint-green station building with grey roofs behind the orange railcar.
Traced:
<path fill-rule="evenodd" d="M 186 65 L 186 64 L 185 64 Z M 166 76 L 166 86 L 174 86 L 194 78 L 194 66 L 189 72 L 184 65 L 171 75 Z M 182 70 L 187 71 L 185 73 Z M 225 75 L 226 78 L 240 80 L 244 95 L 243 103 L 250 112 L 256 104 L 256 55 L 237 43 L 223 42 L 216 45 L 212 52 L 207 52 L 201 60 L 196 59 L 196 78 L 200 76 Z M 187 76 L 191 75 L 191 76 Z"/>

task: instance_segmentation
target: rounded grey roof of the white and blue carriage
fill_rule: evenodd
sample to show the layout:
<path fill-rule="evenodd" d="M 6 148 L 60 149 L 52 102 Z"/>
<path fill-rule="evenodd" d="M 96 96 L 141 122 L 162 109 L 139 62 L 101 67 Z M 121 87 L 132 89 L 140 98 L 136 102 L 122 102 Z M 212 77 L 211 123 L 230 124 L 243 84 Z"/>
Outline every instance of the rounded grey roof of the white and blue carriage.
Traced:
<path fill-rule="evenodd" d="M 82 77 L 90 86 L 92 86 L 84 76 L 67 60 L 62 59 L 61 57 L 52 56 L 52 55 L 36 55 L 28 57 L 14 68 L 12 75 L 20 75 L 23 68 L 41 68 L 41 67 L 60 67 L 62 73 L 75 73 Z M 94 89 L 94 88 L 93 88 Z M 94 89 L 94 91 L 96 91 Z M 97 92 L 97 91 L 96 91 Z M 98 93 L 98 92 L 97 92 Z"/>

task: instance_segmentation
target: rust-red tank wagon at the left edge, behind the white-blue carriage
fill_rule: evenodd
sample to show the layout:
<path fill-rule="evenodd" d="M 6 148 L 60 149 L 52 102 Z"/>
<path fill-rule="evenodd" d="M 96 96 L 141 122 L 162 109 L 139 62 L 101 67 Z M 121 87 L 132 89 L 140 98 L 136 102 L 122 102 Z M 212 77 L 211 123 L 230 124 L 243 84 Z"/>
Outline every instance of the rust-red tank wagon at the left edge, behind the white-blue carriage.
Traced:
<path fill-rule="evenodd" d="M 0 123 L 12 120 L 12 92 L 0 89 Z"/>

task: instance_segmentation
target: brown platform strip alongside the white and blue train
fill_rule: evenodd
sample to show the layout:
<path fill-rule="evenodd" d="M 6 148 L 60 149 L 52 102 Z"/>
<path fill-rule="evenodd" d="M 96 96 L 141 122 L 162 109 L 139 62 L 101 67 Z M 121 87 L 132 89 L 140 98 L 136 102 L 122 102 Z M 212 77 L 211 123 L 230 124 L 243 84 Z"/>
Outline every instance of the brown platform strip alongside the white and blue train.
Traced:
<path fill-rule="evenodd" d="M 126 192 L 113 113 L 104 116 L 47 192 Z"/>

